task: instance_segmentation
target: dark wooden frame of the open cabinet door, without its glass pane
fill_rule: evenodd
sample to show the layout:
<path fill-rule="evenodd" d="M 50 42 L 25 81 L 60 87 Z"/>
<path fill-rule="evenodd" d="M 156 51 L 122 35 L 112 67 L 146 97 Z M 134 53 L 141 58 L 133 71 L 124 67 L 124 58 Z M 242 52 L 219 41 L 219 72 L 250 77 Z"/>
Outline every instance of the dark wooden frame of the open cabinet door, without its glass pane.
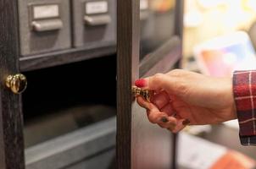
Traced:
<path fill-rule="evenodd" d="M 136 79 L 165 73 L 179 63 L 183 1 L 175 2 L 175 29 L 170 41 L 142 60 L 139 3 L 117 0 L 117 166 L 120 169 L 175 168 L 175 136 L 148 122 L 145 110 L 131 95 L 131 86 Z M 164 51 L 166 46 L 168 52 Z M 163 53 L 165 57 L 155 59 Z"/>

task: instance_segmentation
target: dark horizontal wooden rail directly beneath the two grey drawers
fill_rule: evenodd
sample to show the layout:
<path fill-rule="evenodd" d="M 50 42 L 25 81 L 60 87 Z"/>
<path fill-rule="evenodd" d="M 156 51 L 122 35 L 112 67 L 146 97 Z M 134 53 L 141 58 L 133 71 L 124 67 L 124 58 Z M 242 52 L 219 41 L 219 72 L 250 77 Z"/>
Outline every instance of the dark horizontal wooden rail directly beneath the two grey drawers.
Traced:
<path fill-rule="evenodd" d="M 109 44 L 108 46 L 93 49 L 78 48 L 20 57 L 19 64 L 21 71 L 31 71 L 39 68 L 49 68 L 61 64 L 75 63 L 91 58 L 103 57 L 114 54 L 115 52 L 116 46 L 114 44 Z"/>

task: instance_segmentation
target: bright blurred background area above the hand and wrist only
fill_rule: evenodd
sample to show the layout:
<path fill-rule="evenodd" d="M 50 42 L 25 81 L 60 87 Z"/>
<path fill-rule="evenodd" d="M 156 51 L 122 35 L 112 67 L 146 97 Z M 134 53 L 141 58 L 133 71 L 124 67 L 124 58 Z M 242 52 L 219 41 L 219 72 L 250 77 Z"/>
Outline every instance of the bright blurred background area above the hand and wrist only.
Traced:
<path fill-rule="evenodd" d="M 231 67 L 230 72 L 233 69 L 255 68 L 255 64 L 249 62 L 254 59 L 249 55 L 255 54 L 256 45 L 255 1 L 186 0 L 185 2 L 183 68 L 191 69 L 187 61 L 193 59 L 199 60 L 199 67 L 203 73 L 208 72 L 216 76 L 228 74 L 226 70 L 228 66 Z M 242 31 L 243 35 L 237 35 L 237 31 Z M 208 62 L 211 54 L 216 57 L 222 56 L 222 61 L 220 57 L 211 58 L 211 61 L 212 64 L 219 63 L 217 64 L 219 69 L 225 68 L 221 71 L 226 72 L 217 74 L 213 68 L 209 70 Z M 244 60 L 247 67 L 237 68 L 238 60 Z"/>

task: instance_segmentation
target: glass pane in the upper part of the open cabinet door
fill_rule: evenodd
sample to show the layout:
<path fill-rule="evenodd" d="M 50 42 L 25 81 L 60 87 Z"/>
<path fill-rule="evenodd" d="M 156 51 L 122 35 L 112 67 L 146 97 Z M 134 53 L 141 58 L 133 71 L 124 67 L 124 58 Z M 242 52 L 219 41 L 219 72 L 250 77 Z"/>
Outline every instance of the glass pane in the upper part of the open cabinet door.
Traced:
<path fill-rule="evenodd" d="M 175 28 L 175 0 L 141 0 L 141 59 L 170 40 Z"/>

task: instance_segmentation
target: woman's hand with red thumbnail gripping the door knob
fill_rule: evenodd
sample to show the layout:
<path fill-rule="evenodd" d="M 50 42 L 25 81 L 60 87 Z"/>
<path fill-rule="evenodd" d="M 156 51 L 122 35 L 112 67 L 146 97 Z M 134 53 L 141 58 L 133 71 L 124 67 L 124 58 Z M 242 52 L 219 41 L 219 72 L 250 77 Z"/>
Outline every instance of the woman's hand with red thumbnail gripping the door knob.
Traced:
<path fill-rule="evenodd" d="M 237 118 L 231 78 L 213 78 L 175 69 L 136 80 L 136 86 L 153 90 L 150 102 L 137 103 L 147 109 L 151 123 L 176 133 L 187 124 L 215 124 Z"/>

